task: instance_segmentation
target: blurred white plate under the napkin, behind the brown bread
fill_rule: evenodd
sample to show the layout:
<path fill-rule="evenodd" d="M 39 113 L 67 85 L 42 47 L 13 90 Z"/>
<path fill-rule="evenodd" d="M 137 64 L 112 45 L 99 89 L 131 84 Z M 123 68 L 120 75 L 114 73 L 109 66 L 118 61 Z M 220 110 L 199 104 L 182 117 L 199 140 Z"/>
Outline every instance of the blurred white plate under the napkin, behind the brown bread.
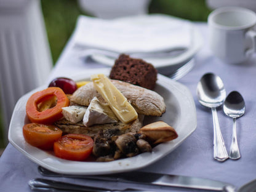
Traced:
<path fill-rule="evenodd" d="M 194 26 L 191 27 L 191 41 L 191 46 L 188 47 L 188 49 L 185 52 L 177 56 L 143 58 L 143 60 L 145 60 L 148 63 L 152 63 L 159 73 L 168 75 L 169 71 L 171 72 L 173 69 L 176 69 L 177 66 L 185 64 L 186 62 L 191 60 L 191 58 L 193 58 L 194 55 L 196 55 L 196 53 L 198 52 L 198 50 L 201 48 L 202 37 L 198 29 Z M 114 60 L 116 59 L 99 54 L 92 55 L 91 58 L 95 62 L 102 63 L 108 66 L 113 66 Z"/>

